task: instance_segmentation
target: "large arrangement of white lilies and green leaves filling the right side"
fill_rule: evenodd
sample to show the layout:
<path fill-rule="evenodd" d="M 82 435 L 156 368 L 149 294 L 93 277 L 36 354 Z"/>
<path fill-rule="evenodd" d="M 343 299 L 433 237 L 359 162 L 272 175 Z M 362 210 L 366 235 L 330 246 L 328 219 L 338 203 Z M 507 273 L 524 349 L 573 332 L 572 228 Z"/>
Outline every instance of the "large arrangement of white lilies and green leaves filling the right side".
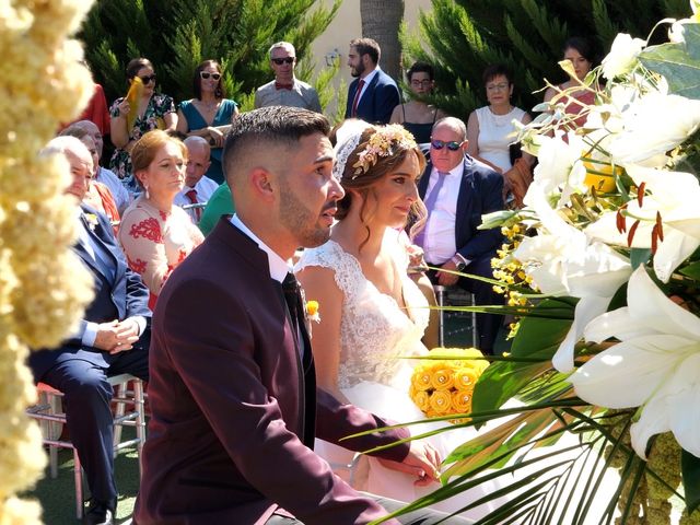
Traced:
<path fill-rule="evenodd" d="M 412 508 L 501 477 L 509 501 L 483 523 L 700 524 L 700 2 L 691 9 L 663 22 L 665 44 L 618 35 L 599 68 L 520 127 L 538 159 L 524 207 L 481 226 L 505 234 L 494 273 L 501 311 L 520 320 L 460 424 L 509 419 L 453 451 L 444 486 Z M 568 115 L 581 90 L 595 102 Z"/>

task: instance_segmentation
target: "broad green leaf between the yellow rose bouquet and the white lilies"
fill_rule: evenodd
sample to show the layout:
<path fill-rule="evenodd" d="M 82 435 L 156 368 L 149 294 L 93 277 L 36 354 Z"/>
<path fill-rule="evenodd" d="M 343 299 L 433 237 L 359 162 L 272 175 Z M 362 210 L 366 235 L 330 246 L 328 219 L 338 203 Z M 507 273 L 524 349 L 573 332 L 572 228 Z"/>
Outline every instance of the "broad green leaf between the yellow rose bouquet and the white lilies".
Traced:
<path fill-rule="evenodd" d="M 534 313 L 537 317 L 525 317 L 521 320 L 511 354 L 514 358 L 539 358 L 542 362 L 528 364 L 501 361 L 491 364 L 481 374 L 475 387 L 475 412 L 499 408 L 535 377 L 551 369 L 551 358 L 567 337 L 573 322 L 576 302 L 576 299 L 571 298 L 548 299 L 535 307 Z M 556 312 L 557 318 L 548 317 L 548 312 Z"/>

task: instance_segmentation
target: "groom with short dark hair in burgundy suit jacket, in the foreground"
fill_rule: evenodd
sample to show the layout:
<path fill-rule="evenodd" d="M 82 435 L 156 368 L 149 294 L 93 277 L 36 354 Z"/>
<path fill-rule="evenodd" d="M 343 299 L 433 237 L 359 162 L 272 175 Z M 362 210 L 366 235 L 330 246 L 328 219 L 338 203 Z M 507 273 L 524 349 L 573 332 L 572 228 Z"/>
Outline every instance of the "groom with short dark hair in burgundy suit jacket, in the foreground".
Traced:
<path fill-rule="evenodd" d="M 377 432 L 387 421 L 316 389 L 289 259 L 328 240 L 343 195 L 328 128 L 320 114 L 279 106 L 233 121 L 224 168 L 236 214 L 177 267 L 155 308 L 138 525 L 359 525 L 386 513 L 312 451 L 316 435 L 355 451 L 408 436 Z M 359 431 L 370 434 L 340 442 Z M 374 455 L 436 476 L 430 445 Z"/>

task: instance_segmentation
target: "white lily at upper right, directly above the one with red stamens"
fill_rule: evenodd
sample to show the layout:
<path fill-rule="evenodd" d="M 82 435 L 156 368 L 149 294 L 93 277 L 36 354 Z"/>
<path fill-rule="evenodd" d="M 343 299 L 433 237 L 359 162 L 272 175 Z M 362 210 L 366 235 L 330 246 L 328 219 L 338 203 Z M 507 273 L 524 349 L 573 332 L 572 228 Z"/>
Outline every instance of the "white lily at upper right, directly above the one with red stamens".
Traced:
<path fill-rule="evenodd" d="M 608 150 L 615 163 L 662 167 L 666 152 L 700 126 L 700 101 L 653 92 L 631 104 L 622 118 L 623 131 Z"/>

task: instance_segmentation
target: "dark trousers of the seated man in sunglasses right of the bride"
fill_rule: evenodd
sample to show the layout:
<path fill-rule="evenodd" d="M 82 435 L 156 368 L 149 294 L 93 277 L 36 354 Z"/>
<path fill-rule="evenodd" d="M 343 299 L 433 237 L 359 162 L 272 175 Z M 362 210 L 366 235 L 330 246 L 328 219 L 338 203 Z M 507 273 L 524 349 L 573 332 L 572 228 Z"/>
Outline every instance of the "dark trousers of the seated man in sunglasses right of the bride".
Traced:
<path fill-rule="evenodd" d="M 491 267 L 492 254 L 480 259 L 475 259 L 463 270 L 464 273 L 471 273 L 474 276 L 486 277 L 493 279 L 493 268 Z M 429 266 L 439 266 L 431 265 Z M 433 284 L 438 284 L 438 276 L 434 270 L 427 272 L 428 278 Z M 457 281 L 457 285 L 469 293 L 474 293 L 474 303 L 477 306 L 480 305 L 502 305 L 503 295 L 493 291 L 493 284 L 488 282 L 478 281 L 466 277 L 460 277 Z M 486 354 L 493 354 L 493 345 L 495 337 L 499 334 L 499 329 L 503 324 L 502 315 L 494 314 L 477 314 L 477 332 L 479 336 L 478 348 Z"/>

